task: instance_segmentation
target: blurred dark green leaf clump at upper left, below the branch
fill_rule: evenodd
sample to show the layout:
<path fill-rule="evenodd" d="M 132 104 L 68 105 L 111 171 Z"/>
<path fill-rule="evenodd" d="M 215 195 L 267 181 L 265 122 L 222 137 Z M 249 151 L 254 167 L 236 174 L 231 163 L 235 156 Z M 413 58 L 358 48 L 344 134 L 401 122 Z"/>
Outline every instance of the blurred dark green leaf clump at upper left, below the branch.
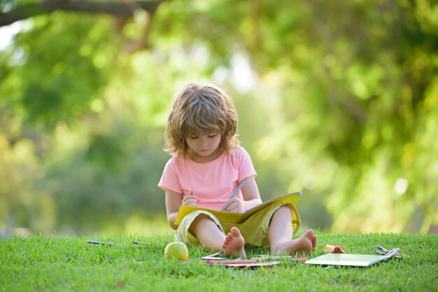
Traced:
<path fill-rule="evenodd" d="M 115 53 L 107 26 L 108 21 L 95 17 L 56 13 L 36 17 L 32 29 L 17 36 L 13 49 L 20 59 L 11 75 L 26 78 L 16 81 L 17 98 L 3 98 L 13 99 L 13 108 L 31 124 L 50 128 L 90 111 L 90 101 L 99 98 L 106 84 Z"/>

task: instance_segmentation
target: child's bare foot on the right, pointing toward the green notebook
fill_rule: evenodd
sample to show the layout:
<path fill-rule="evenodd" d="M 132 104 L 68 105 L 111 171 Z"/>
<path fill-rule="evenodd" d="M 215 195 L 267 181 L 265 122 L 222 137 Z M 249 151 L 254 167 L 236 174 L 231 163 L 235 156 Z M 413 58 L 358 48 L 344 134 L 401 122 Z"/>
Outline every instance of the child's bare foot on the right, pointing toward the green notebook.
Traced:
<path fill-rule="evenodd" d="M 276 247 L 271 246 L 271 254 L 281 255 L 290 253 L 295 255 L 301 252 L 311 252 L 315 250 L 316 244 L 318 244 L 318 238 L 316 238 L 313 229 L 309 229 L 301 238 L 281 242 Z"/>

